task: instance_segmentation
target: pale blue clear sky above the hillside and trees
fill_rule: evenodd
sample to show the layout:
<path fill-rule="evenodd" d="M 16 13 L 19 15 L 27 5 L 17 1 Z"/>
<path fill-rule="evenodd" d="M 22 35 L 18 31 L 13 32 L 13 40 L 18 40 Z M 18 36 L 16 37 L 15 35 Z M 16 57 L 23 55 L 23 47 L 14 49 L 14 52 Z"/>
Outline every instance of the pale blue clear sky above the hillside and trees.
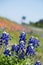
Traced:
<path fill-rule="evenodd" d="M 43 0 L 0 0 L 0 16 L 17 23 L 36 22 L 43 19 Z"/>

